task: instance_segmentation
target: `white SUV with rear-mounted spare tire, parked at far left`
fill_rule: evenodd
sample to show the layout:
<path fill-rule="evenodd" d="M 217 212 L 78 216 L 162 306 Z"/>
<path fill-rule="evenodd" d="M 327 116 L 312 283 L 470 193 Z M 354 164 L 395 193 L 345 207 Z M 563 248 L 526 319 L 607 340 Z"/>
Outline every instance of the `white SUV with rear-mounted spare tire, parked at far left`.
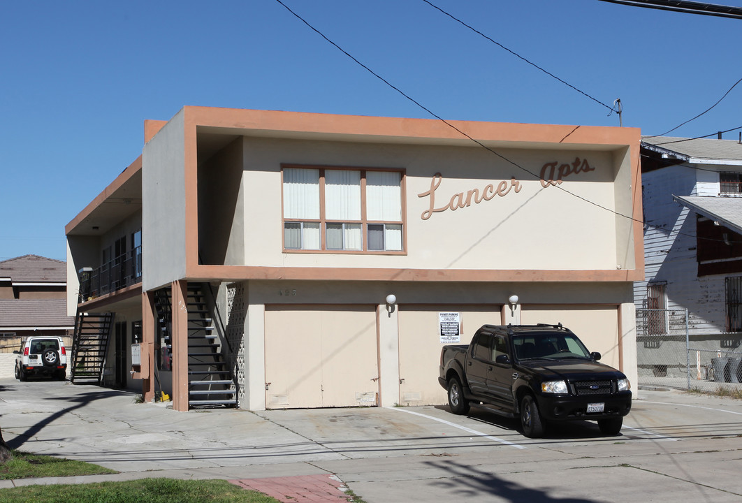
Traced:
<path fill-rule="evenodd" d="M 21 341 L 16 354 L 16 379 L 51 375 L 63 381 L 67 373 L 67 351 L 61 337 L 33 336 Z"/>

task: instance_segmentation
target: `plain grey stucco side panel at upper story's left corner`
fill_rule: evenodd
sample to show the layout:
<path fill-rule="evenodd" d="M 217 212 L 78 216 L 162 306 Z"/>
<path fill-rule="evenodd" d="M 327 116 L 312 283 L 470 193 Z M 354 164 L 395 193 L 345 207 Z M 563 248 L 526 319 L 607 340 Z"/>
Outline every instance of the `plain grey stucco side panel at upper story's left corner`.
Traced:
<path fill-rule="evenodd" d="M 180 111 L 142 151 L 142 288 L 185 277 L 184 113 Z"/>

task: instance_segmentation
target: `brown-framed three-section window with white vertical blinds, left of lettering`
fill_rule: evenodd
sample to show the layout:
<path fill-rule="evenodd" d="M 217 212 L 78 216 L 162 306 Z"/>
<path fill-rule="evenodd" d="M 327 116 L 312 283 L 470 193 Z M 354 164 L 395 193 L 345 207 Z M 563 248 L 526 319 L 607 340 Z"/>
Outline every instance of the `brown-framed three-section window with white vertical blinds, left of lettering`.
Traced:
<path fill-rule="evenodd" d="M 283 165 L 283 249 L 404 252 L 404 173 Z"/>

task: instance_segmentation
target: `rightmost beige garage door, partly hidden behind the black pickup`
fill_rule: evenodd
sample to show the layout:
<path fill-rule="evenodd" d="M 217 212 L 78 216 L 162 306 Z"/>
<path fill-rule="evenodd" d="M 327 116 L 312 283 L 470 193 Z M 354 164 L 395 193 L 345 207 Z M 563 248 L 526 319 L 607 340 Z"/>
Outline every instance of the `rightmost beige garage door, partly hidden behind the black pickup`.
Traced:
<path fill-rule="evenodd" d="M 521 323 L 562 323 L 604 364 L 619 367 L 618 306 L 523 306 Z"/>

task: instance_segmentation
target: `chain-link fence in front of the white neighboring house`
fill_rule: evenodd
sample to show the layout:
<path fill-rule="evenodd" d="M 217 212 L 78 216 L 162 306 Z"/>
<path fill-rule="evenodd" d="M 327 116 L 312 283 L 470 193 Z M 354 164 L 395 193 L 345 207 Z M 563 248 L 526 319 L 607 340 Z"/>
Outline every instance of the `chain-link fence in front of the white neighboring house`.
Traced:
<path fill-rule="evenodd" d="M 742 346 L 724 335 L 689 337 L 686 309 L 637 309 L 640 386 L 717 389 L 742 383 Z"/>

